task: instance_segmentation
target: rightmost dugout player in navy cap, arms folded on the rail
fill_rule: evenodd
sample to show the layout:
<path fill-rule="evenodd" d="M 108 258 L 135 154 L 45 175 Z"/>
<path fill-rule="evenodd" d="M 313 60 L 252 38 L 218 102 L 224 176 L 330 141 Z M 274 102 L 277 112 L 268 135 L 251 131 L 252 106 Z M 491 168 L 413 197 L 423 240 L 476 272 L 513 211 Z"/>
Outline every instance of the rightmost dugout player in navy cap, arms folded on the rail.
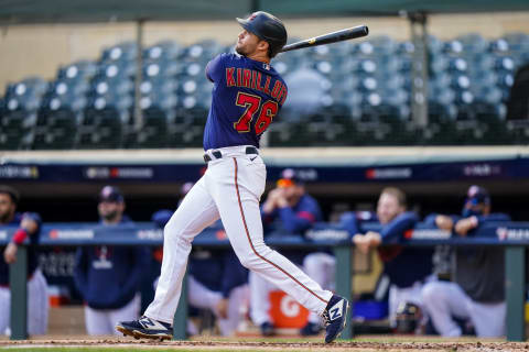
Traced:
<path fill-rule="evenodd" d="M 488 191 L 471 186 L 461 216 L 430 215 L 424 221 L 451 231 L 453 237 L 472 238 L 484 223 L 510 221 L 506 213 L 492 211 Z M 452 280 L 424 286 L 423 304 L 436 332 L 460 337 L 472 331 L 478 337 L 505 334 L 505 250 L 499 246 L 456 248 Z M 464 321 L 461 323 L 461 321 Z"/>

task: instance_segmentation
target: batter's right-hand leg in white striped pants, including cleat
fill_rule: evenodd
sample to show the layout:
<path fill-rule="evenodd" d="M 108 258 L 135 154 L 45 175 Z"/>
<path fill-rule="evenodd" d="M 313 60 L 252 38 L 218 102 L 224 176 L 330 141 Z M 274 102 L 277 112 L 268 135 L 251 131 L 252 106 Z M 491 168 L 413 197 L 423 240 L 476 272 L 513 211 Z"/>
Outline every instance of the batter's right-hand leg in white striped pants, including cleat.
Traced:
<path fill-rule="evenodd" d="M 262 160 L 240 156 L 215 161 L 209 164 L 205 177 L 241 264 L 261 274 L 309 310 L 319 315 L 332 310 L 325 340 L 333 341 L 345 327 L 348 302 L 322 289 L 296 265 L 264 244 L 259 209 L 266 180 Z"/>

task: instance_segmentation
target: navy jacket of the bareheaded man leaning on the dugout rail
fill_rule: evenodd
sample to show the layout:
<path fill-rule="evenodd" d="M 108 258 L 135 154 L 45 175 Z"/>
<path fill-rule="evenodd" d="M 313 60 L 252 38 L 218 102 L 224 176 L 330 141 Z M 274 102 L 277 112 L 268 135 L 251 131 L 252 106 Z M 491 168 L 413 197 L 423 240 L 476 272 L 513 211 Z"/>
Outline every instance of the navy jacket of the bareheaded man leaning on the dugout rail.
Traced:
<path fill-rule="evenodd" d="M 364 220 L 354 213 L 347 213 L 342 217 L 342 226 L 352 237 L 356 233 L 364 234 L 366 232 L 361 228 Z M 379 231 L 382 244 L 396 244 L 378 248 L 378 253 L 384 261 L 384 272 L 391 284 L 400 288 L 410 287 L 414 282 L 423 280 L 432 273 L 432 249 L 398 245 L 404 241 L 404 232 L 412 229 L 418 221 L 419 218 L 414 212 L 407 211 L 382 226 Z"/>

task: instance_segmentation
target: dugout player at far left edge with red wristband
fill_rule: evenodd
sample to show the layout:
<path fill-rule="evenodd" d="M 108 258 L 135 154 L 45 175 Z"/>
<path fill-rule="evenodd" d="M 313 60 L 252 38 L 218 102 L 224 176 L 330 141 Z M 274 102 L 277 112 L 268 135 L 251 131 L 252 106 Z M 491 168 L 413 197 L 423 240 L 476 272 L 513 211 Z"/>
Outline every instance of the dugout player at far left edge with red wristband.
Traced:
<path fill-rule="evenodd" d="M 11 241 L 2 248 L 0 260 L 0 334 L 10 334 L 11 292 L 9 289 L 9 265 L 17 262 L 19 245 L 28 243 L 28 333 L 45 334 L 47 331 L 48 300 L 47 284 L 39 268 L 37 245 L 41 217 L 35 212 L 17 212 L 19 193 L 0 185 L 0 228 L 19 227 Z"/>

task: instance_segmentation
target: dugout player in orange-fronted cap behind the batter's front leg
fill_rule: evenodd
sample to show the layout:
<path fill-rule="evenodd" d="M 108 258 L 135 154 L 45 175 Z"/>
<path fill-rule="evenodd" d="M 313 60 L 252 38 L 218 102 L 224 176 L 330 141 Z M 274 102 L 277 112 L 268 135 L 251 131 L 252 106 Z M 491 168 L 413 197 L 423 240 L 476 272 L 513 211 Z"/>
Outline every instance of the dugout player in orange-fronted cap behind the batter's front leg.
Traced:
<path fill-rule="evenodd" d="M 267 200 L 261 207 L 264 234 L 271 231 L 287 232 L 289 234 L 303 235 L 317 221 L 323 221 L 322 211 L 317 200 L 306 194 L 304 183 L 298 173 L 292 168 L 287 168 L 281 173 L 281 178 L 277 182 L 276 188 L 270 190 Z M 328 253 L 303 252 L 300 250 L 281 250 L 284 256 L 312 277 L 322 287 L 328 289 L 328 283 L 333 277 L 327 277 L 325 270 L 326 263 L 332 262 L 334 267 L 334 257 Z M 250 284 L 250 317 L 256 326 L 260 328 L 263 336 L 273 336 L 276 327 L 271 321 L 270 292 L 274 286 L 263 279 L 261 276 L 251 273 L 249 275 Z M 322 331 L 323 324 L 316 314 L 309 315 L 307 323 L 300 330 L 302 336 L 314 336 Z"/>

